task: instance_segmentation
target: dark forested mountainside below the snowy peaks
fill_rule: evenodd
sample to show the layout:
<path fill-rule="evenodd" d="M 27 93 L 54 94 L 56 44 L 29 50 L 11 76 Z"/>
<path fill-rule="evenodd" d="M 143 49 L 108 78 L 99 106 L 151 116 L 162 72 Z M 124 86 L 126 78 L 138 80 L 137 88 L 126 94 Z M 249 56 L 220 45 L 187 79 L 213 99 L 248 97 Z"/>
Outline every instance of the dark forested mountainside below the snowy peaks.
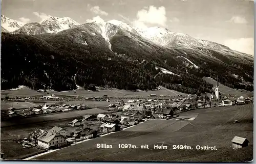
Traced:
<path fill-rule="evenodd" d="M 253 82 L 253 61 L 246 58 L 238 60 L 207 49 L 214 56 L 209 58 L 198 50 L 164 48 L 121 30 L 111 37 L 109 48 L 90 26 L 58 34 L 2 33 L 2 90 L 18 85 L 56 91 L 73 90 L 76 85 L 90 90 L 95 86 L 152 90 L 161 85 L 183 93 L 212 92 L 213 86 L 202 79 L 204 76 L 219 76 L 228 87 L 253 90 L 242 83 Z"/>

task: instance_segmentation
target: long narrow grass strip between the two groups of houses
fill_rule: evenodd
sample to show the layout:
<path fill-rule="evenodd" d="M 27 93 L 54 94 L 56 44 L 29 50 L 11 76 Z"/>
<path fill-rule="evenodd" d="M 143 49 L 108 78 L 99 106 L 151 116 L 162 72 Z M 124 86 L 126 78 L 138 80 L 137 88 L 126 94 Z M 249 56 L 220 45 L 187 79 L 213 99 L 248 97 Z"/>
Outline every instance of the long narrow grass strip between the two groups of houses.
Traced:
<path fill-rule="evenodd" d="M 82 110 L 82 111 L 72 111 L 67 113 L 56 113 L 52 115 L 44 115 L 44 116 L 37 116 L 37 117 L 30 117 L 30 118 L 23 118 L 19 120 L 11 120 L 11 121 L 1 121 L 1 127 L 5 126 L 13 126 L 13 125 L 21 125 L 21 124 L 34 124 L 38 122 L 46 122 L 46 121 L 55 121 L 55 120 L 62 120 L 62 119 L 71 119 L 71 118 L 79 118 L 86 114 L 100 114 L 106 113 L 108 111 L 100 110 L 99 108 L 92 108 L 89 110 Z"/>

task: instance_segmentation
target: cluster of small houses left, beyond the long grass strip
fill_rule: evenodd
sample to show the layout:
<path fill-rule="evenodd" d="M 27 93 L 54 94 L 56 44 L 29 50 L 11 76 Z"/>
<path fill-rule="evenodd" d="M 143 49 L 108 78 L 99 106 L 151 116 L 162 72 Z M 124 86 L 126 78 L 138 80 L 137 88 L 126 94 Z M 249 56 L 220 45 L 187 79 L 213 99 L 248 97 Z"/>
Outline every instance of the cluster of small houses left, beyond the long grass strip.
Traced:
<path fill-rule="evenodd" d="M 72 110 L 84 110 L 87 106 L 84 104 L 56 104 L 54 102 L 44 103 L 43 105 L 37 105 L 29 108 L 8 108 L 9 117 L 27 117 L 33 115 L 50 114 L 56 112 L 67 112 Z"/>

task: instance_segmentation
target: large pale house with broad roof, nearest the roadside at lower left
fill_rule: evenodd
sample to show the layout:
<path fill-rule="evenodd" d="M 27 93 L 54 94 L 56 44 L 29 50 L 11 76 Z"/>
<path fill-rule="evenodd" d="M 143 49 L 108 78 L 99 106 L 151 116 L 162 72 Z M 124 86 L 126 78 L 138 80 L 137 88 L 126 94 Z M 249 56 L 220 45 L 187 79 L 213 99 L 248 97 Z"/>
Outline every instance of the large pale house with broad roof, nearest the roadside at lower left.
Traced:
<path fill-rule="evenodd" d="M 43 132 L 37 138 L 37 145 L 45 149 L 59 148 L 67 145 L 67 140 L 66 137 L 59 132 L 50 130 Z"/>

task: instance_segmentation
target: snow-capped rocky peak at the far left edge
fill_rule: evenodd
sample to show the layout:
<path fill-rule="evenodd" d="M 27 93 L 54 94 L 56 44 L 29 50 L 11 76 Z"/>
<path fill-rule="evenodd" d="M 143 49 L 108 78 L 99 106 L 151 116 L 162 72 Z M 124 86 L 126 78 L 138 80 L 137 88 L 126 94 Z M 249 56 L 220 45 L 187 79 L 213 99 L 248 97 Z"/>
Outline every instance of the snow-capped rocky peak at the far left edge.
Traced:
<path fill-rule="evenodd" d="M 24 24 L 25 23 L 21 21 L 13 20 L 4 15 L 1 15 L 1 26 L 8 32 L 13 32 L 22 27 Z"/>

